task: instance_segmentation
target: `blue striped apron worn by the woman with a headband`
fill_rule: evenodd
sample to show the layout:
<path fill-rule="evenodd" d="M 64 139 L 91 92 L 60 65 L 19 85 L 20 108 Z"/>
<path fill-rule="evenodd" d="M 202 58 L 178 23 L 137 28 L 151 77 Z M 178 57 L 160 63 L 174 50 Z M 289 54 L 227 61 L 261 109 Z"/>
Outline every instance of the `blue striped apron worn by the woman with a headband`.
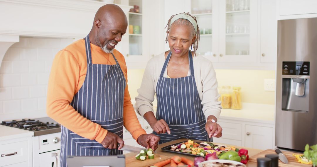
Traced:
<path fill-rule="evenodd" d="M 163 77 L 170 58 L 171 52 L 156 85 L 156 118 L 166 121 L 171 134 L 153 133 L 161 138 L 159 144 L 182 138 L 212 141 L 205 130 L 206 120 L 195 82 L 191 52 L 188 53 L 190 76 L 187 77 Z"/>

